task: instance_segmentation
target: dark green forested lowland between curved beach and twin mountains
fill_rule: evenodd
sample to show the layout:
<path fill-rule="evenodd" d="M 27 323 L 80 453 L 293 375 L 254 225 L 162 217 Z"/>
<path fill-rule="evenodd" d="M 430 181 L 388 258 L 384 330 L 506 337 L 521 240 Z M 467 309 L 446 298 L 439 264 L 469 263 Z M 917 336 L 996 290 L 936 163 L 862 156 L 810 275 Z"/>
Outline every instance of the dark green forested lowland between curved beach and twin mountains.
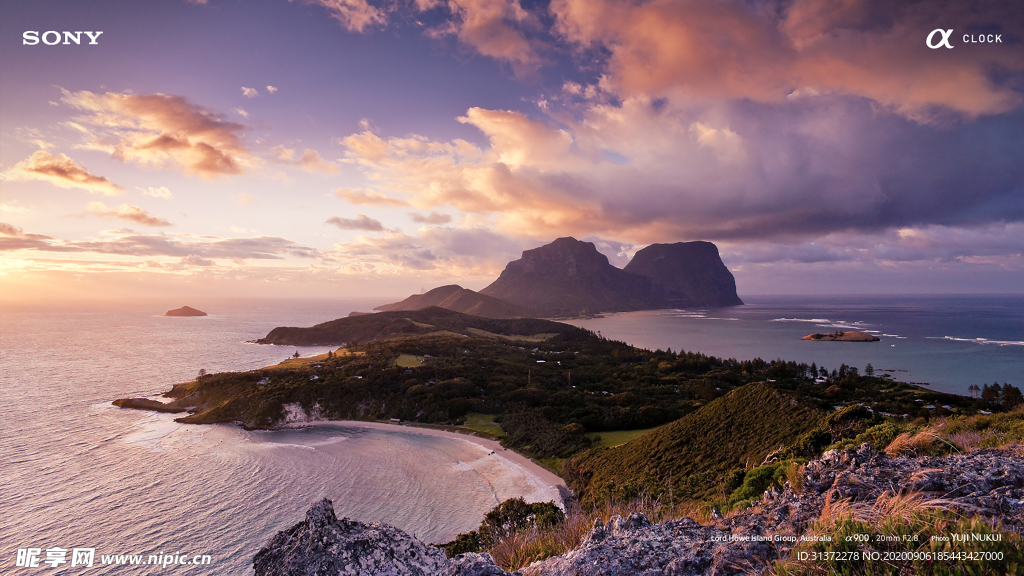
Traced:
<path fill-rule="evenodd" d="M 590 502 L 670 487 L 702 498 L 724 489 L 730 469 L 760 462 L 780 446 L 812 453 L 886 418 L 1005 409 L 845 365 L 825 370 L 649 351 L 557 322 L 439 307 L 275 328 L 260 341 L 344 346 L 176 384 L 165 394 L 167 407 L 188 410 L 181 422 L 248 428 L 392 418 L 468 428 L 474 414 L 485 415 L 502 446 L 559 472 Z M 717 431 L 709 436 L 708 426 Z M 596 448 L 601 434 L 655 427 L 629 450 Z M 722 451 L 723 445 L 733 449 Z M 650 458 L 639 468 L 625 458 L 644 451 Z"/>

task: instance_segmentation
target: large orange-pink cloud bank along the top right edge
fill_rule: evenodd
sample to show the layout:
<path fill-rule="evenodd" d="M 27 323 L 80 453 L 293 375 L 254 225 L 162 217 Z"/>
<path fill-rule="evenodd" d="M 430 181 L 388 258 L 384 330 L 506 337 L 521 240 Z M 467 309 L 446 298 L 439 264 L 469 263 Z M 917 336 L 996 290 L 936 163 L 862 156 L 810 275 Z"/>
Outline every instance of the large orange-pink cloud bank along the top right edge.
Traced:
<path fill-rule="evenodd" d="M 782 101 L 813 90 L 868 97 L 919 120 L 933 107 L 979 116 L 1022 101 L 991 79 L 993 70 L 1024 70 L 1019 44 L 941 53 L 925 45 L 929 31 L 949 26 L 1024 32 L 994 2 L 797 0 L 778 13 L 742 2 L 554 0 L 552 11 L 562 38 L 609 52 L 602 85 L 620 96 Z"/>

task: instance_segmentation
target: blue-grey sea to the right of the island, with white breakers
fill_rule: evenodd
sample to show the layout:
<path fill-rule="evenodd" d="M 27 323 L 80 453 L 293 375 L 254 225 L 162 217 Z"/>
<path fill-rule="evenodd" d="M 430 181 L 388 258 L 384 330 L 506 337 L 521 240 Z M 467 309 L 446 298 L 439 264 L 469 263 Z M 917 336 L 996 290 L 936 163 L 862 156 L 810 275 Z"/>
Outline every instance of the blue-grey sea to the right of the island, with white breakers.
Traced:
<path fill-rule="evenodd" d="M 1024 385 L 1024 296 L 751 296 L 746 305 L 654 311 L 571 321 L 606 338 L 722 358 L 867 364 L 908 382 L 968 394 L 971 384 Z M 878 342 L 801 340 L 857 330 Z"/>

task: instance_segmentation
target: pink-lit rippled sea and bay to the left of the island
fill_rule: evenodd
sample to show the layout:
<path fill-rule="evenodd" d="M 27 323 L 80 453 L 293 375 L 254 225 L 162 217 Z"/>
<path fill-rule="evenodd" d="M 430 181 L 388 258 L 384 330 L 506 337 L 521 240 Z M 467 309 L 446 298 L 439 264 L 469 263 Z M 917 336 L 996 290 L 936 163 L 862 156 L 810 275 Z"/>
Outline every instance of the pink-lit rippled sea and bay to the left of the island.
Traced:
<path fill-rule="evenodd" d="M 336 424 L 280 431 L 181 425 L 111 401 L 299 351 L 247 343 L 379 301 L 0 306 L 0 574 L 246 574 L 309 504 L 427 541 L 475 529 L 501 500 L 550 500 L 535 477 L 464 440 Z M 95 547 L 91 569 L 15 568 L 17 548 Z M 211 554 L 206 567 L 99 567 L 98 554 Z M 43 553 L 45 560 L 45 552 Z M 68 560 L 71 560 L 70 553 Z"/>

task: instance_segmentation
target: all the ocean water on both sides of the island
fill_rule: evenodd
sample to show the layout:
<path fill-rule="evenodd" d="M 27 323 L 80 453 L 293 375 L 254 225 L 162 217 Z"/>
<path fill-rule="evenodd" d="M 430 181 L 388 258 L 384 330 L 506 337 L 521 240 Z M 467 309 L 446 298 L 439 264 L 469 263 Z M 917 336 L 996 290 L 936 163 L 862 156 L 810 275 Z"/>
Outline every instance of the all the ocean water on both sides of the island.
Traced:
<path fill-rule="evenodd" d="M 1024 385 L 1024 297 L 748 297 L 745 306 L 607 315 L 572 324 L 649 347 L 738 359 L 891 370 L 966 394 Z M 187 303 L 204 318 L 165 318 Z M 387 522 L 432 542 L 475 528 L 498 501 L 548 499 L 537 478 L 470 442 L 338 424 L 275 431 L 173 422 L 111 401 L 210 372 L 249 370 L 326 347 L 249 343 L 379 300 L 209 300 L 0 305 L 0 571 L 18 548 L 99 554 L 210 554 L 160 572 L 251 573 L 252 557 L 319 498 L 339 516 Z M 809 342 L 835 329 L 879 342 Z M 45 559 L 45 553 L 43 554 Z M 70 557 L 69 557 L 70 559 Z M 48 571 L 49 567 L 46 568 Z M 20 570 L 20 572 L 18 572 Z M 38 569 L 36 569 L 38 570 Z M 65 565 L 61 573 L 77 573 Z"/>

